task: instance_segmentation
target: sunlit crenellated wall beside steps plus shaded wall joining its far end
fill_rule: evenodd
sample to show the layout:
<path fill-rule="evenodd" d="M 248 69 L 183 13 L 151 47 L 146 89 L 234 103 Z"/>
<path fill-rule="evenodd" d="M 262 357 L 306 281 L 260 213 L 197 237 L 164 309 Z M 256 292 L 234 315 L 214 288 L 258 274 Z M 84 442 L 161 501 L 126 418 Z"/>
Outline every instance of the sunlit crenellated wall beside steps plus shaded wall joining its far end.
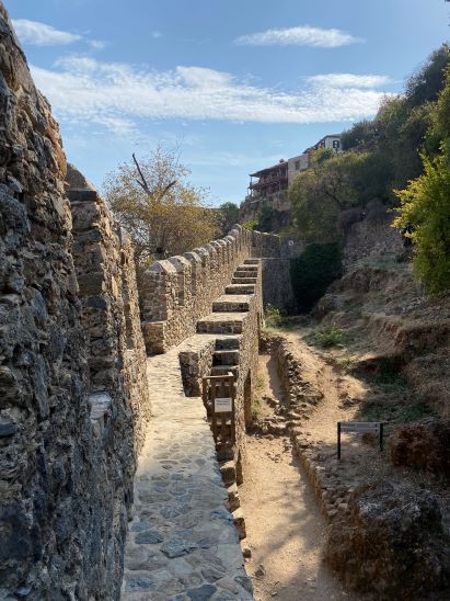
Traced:
<path fill-rule="evenodd" d="M 163 353 L 192 336 L 197 320 L 231 283 L 245 259 L 262 258 L 264 305 L 295 307 L 290 259 L 302 250 L 273 234 L 250 231 L 239 225 L 228 236 L 203 248 L 155 261 L 147 270 L 140 294 L 147 352 Z"/>

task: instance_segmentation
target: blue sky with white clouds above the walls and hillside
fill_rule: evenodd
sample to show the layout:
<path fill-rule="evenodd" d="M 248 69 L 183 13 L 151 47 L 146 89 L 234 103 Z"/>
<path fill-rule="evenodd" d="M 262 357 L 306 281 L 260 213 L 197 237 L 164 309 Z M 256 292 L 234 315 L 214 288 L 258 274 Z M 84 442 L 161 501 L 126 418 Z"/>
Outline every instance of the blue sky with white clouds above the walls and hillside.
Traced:
<path fill-rule="evenodd" d="M 443 0 L 4 0 L 68 160 L 181 147 L 210 201 L 370 117 L 448 39 Z"/>

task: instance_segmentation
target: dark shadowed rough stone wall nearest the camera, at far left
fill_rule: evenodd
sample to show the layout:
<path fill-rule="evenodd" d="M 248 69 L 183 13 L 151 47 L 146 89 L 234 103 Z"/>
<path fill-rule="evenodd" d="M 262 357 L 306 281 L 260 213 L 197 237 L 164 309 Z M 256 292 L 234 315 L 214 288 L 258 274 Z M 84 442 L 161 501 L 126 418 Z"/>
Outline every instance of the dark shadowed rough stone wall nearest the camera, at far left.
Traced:
<path fill-rule="evenodd" d="M 0 106 L 0 598 L 117 599 L 135 376 L 89 402 L 66 159 L 1 2 Z"/>

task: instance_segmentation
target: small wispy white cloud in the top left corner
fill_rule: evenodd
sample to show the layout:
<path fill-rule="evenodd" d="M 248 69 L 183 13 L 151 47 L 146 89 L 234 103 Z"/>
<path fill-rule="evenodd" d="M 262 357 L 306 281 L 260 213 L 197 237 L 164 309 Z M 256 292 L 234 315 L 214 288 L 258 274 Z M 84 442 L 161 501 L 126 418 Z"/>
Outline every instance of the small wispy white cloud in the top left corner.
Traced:
<path fill-rule="evenodd" d="M 39 21 L 14 19 L 12 23 L 22 44 L 30 44 L 32 46 L 65 46 L 76 42 L 85 42 L 95 49 L 101 49 L 105 45 L 99 39 L 86 39 L 82 35 L 64 32 Z"/>

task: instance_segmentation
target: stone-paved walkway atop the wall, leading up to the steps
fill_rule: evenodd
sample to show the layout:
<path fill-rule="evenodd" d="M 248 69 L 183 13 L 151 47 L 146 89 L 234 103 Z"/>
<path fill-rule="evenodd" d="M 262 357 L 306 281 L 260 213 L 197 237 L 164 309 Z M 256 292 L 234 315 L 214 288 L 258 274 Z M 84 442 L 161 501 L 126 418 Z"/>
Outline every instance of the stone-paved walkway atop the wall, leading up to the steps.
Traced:
<path fill-rule="evenodd" d="M 253 599 L 206 411 L 200 398 L 184 396 L 186 343 L 148 359 L 154 417 L 135 478 L 126 601 Z"/>

